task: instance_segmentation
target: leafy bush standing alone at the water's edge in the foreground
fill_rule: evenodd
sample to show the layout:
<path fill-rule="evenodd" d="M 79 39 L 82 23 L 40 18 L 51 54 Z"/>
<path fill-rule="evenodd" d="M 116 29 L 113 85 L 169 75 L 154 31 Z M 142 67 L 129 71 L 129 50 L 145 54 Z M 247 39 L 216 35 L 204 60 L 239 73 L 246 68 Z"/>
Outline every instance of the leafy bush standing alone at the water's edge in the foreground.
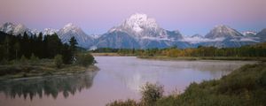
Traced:
<path fill-rule="evenodd" d="M 163 86 L 158 84 L 146 83 L 141 90 L 142 99 L 141 102 L 145 106 L 153 106 L 157 100 L 163 95 Z"/>

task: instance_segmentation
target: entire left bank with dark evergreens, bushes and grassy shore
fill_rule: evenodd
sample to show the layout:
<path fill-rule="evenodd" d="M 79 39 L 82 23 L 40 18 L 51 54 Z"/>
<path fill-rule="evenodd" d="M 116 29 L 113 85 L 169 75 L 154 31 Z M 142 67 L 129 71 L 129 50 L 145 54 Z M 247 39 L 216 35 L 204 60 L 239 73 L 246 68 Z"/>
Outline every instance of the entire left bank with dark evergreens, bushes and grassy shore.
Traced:
<path fill-rule="evenodd" d="M 74 37 L 67 44 L 57 34 L 15 36 L 0 32 L 0 79 L 97 70 L 94 57 L 78 51 L 76 45 Z"/>

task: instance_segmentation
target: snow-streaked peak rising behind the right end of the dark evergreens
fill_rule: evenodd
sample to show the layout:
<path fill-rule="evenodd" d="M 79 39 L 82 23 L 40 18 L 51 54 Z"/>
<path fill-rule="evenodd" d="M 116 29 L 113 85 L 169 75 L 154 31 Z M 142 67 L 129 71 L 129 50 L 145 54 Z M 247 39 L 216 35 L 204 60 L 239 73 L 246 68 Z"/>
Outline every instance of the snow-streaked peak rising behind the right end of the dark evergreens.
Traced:
<path fill-rule="evenodd" d="M 49 33 L 53 33 L 54 30 L 50 30 Z M 71 37 L 74 36 L 78 45 L 82 48 L 89 49 L 94 44 L 94 39 L 82 31 L 82 28 L 75 26 L 72 23 L 66 24 L 65 27 L 59 29 L 57 32 L 62 42 L 68 43 Z"/>

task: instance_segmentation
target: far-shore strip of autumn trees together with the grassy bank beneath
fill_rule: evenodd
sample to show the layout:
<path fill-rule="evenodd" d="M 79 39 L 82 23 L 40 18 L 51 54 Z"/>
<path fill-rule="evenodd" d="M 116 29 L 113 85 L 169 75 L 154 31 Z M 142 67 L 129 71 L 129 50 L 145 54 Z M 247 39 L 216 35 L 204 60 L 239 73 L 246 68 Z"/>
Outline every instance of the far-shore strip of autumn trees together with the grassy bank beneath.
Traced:
<path fill-rule="evenodd" d="M 192 49 L 95 49 L 93 53 L 117 53 L 120 56 L 137 56 L 141 58 L 172 60 L 266 60 L 266 42 L 242 46 L 240 48 L 202 47 Z"/>

